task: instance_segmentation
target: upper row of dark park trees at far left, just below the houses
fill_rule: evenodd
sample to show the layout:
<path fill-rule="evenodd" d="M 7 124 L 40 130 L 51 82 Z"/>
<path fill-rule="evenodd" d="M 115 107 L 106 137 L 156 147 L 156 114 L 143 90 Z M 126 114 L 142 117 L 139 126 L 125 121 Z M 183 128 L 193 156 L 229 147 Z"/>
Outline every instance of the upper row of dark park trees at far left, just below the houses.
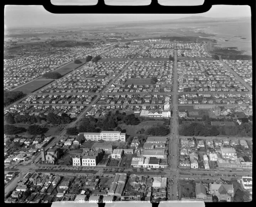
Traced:
<path fill-rule="evenodd" d="M 34 124 L 41 123 L 42 120 L 46 121 L 49 124 L 68 124 L 72 121 L 72 118 L 66 113 L 61 114 L 61 116 L 49 113 L 47 116 L 44 114 L 40 114 L 39 116 L 30 116 L 29 114 L 25 115 L 13 115 L 12 113 L 8 113 L 4 117 L 6 124 L 17 124 L 17 123 L 25 123 L 25 124 Z"/>

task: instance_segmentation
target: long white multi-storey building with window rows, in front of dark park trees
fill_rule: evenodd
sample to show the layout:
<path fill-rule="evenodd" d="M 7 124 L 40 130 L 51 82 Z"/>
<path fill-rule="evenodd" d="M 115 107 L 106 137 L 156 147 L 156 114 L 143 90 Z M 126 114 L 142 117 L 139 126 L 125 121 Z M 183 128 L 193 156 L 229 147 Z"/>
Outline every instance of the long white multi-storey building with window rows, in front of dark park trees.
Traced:
<path fill-rule="evenodd" d="M 80 134 L 84 134 L 84 138 L 86 140 L 99 141 L 102 139 L 109 142 L 115 142 L 118 140 L 125 142 L 125 133 L 121 133 L 119 131 L 102 131 L 99 133 L 84 132 Z"/>

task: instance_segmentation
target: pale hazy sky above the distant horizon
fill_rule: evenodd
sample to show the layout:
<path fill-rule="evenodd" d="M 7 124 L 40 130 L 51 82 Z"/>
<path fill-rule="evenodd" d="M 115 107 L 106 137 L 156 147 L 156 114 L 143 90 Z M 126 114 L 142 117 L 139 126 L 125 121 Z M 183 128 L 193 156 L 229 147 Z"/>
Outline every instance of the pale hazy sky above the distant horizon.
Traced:
<path fill-rule="evenodd" d="M 22 26 L 72 25 L 82 23 L 111 23 L 131 21 L 172 20 L 189 16 L 204 17 L 251 17 L 247 5 L 213 5 L 205 13 L 199 14 L 53 14 L 40 5 L 6 5 L 5 28 Z M 104 20 L 104 22 L 103 22 Z"/>

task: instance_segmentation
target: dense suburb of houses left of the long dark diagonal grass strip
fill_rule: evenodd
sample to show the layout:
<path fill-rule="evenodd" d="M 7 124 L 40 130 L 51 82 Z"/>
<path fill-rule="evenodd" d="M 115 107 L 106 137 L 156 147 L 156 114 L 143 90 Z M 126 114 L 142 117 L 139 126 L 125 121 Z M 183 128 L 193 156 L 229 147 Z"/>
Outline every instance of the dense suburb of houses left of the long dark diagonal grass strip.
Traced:
<path fill-rule="evenodd" d="M 15 54 L 12 53 L 13 58 L 4 61 L 4 89 L 10 90 L 27 83 L 91 50 L 84 47 L 52 47 L 49 54 L 48 47 L 19 48 Z"/>

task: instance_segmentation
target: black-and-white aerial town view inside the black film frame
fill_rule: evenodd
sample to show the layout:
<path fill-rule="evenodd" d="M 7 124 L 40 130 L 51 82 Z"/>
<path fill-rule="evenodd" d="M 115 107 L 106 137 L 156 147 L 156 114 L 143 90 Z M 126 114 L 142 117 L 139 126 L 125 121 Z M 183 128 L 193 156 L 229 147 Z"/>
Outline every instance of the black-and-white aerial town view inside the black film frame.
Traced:
<path fill-rule="evenodd" d="M 249 6 L 5 5 L 3 46 L 5 203 L 252 200 Z"/>

